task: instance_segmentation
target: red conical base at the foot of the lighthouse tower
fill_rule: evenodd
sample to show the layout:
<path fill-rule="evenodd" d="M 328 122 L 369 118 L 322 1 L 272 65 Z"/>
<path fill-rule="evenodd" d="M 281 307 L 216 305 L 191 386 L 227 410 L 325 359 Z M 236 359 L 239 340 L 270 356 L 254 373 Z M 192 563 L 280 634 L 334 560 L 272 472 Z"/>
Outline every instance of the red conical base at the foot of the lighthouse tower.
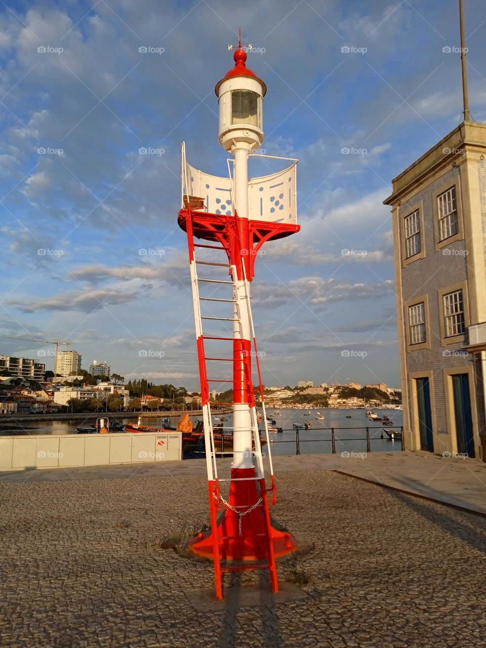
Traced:
<path fill-rule="evenodd" d="M 249 480 L 238 481 L 244 478 Z M 215 561 L 268 560 L 273 562 L 271 552 L 275 558 L 297 550 L 297 540 L 290 533 L 277 531 L 270 525 L 265 480 L 258 480 L 260 485 L 260 492 L 258 492 L 257 480 L 254 478 L 254 468 L 231 470 L 229 507 L 226 508 L 224 517 L 216 527 L 216 537 L 213 535 L 214 524 L 211 529 L 213 533 L 211 531 L 198 533 L 189 543 L 193 553 Z M 212 522 L 216 519 L 216 499 L 213 492 L 214 481 L 209 482 Z M 260 498 L 261 502 L 259 502 Z M 255 508 L 252 509 L 253 505 Z M 236 511 L 243 515 L 238 515 Z M 269 546 L 270 543 L 273 551 Z M 216 548 L 217 555 L 214 555 Z"/>

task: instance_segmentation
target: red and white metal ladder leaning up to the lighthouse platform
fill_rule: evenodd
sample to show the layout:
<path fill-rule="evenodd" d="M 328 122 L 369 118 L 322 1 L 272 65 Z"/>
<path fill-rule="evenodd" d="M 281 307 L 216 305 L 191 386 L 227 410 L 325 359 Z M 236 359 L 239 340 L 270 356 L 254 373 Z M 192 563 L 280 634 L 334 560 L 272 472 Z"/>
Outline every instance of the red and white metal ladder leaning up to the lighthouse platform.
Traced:
<path fill-rule="evenodd" d="M 196 213 L 200 218 L 201 216 L 210 216 L 211 214 L 200 214 Z M 215 218 L 218 218 L 214 215 Z M 253 327 L 253 317 L 251 316 L 251 305 L 249 303 L 249 295 L 246 295 L 244 303 L 238 302 L 237 294 L 235 291 L 235 281 L 236 277 L 236 268 L 231 265 L 229 258 L 229 244 L 228 238 L 229 232 L 227 232 L 226 227 L 218 233 L 214 233 L 214 238 L 211 240 L 216 240 L 220 245 L 210 245 L 196 243 L 194 241 L 194 227 L 193 227 L 194 213 L 191 209 L 187 210 L 187 216 L 185 218 L 185 227 L 187 231 L 187 241 L 189 246 L 189 259 L 191 263 L 191 285 L 192 285 L 192 298 L 194 303 L 194 322 L 196 325 L 196 340 L 198 348 L 198 361 L 199 361 L 199 371 L 200 371 L 200 382 L 201 382 L 201 394 L 202 394 L 202 410 L 203 410 L 203 424 L 204 424 L 204 441 L 205 441 L 205 454 L 206 454 L 206 466 L 207 466 L 207 479 L 209 486 L 209 509 L 211 514 L 211 535 L 200 533 L 196 537 L 194 544 L 192 545 L 192 550 L 195 553 L 200 553 L 200 555 L 205 555 L 210 557 L 212 555 L 214 561 L 214 577 L 216 584 L 216 596 L 222 598 L 222 573 L 224 572 L 239 572 L 242 570 L 260 570 L 268 569 L 270 572 L 270 582 L 272 584 L 272 590 L 274 592 L 278 591 L 278 579 L 277 579 L 277 569 L 275 566 L 275 529 L 272 529 L 270 522 L 270 511 L 268 506 L 268 497 L 267 493 L 272 493 L 272 503 L 276 503 L 276 491 L 275 491 L 275 478 L 273 476 L 273 464 L 272 464 L 272 454 L 270 450 L 270 439 L 268 433 L 268 424 L 266 420 L 266 410 L 264 404 L 264 394 L 263 386 L 261 381 L 261 372 L 259 365 L 259 357 L 257 354 L 256 340 L 255 340 L 255 331 Z M 222 218 L 220 218 L 222 220 Z M 213 260 L 199 260 L 196 259 L 196 248 L 209 249 L 214 251 L 222 251 L 225 253 L 227 260 L 226 262 L 215 262 Z M 227 271 L 227 275 L 224 279 L 218 277 L 198 277 L 198 266 L 209 266 L 212 269 L 221 269 L 224 268 Z M 228 279 L 229 277 L 229 279 Z M 200 295 L 200 284 L 205 284 L 207 286 L 213 286 L 214 290 L 208 296 L 202 297 Z M 221 297 L 218 293 L 218 296 L 214 296 L 215 291 L 219 286 L 226 286 L 226 288 L 231 287 L 231 295 L 225 295 Z M 232 316 L 222 317 L 218 314 L 215 314 L 213 311 L 209 310 L 208 314 L 202 313 L 202 305 L 209 307 L 209 304 L 214 303 L 218 305 L 231 305 L 233 307 Z M 239 338 L 235 338 L 233 331 L 231 334 L 205 334 L 203 332 L 203 321 L 214 323 L 216 321 L 223 323 L 224 326 L 227 326 L 229 323 L 235 326 L 235 324 L 240 322 L 239 309 L 248 308 L 249 321 L 251 322 L 251 333 L 253 336 L 253 349 L 256 358 L 256 365 L 258 371 L 258 390 L 260 392 L 260 397 L 262 399 L 262 408 L 264 415 L 264 425 L 265 425 L 265 435 L 266 435 L 266 445 L 268 448 L 268 460 L 270 465 L 270 475 L 272 479 L 272 486 L 270 489 L 266 487 L 265 478 L 264 478 L 264 467 L 263 467 L 263 455 L 260 443 L 260 433 L 258 428 L 257 421 L 257 411 L 255 408 L 255 403 L 253 402 L 250 411 L 251 411 L 251 432 L 253 439 L 254 452 L 253 457 L 255 459 L 255 476 L 243 477 L 243 478 L 225 478 L 222 479 L 218 477 L 218 466 L 216 459 L 218 456 L 221 456 L 221 452 L 218 452 L 218 438 L 215 437 L 214 428 L 213 428 L 213 412 L 211 410 L 211 400 L 210 400 L 210 384 L 213 383 L 231 383 L 233 384 L 233 379 L 228 378 L 209 378 L 208 377 L 208 365 L 207 363 L 224 363 L 224 362 L 233 362 L 233 344 L 237 341 L 240 341 Z M 207 311 L 205 311 L 207 312 Z M 225 333 L 225 331 L 223 331 Z M 218 341 L 219 343 L 230 343 L 231 344 L 231 353 L 226 356 L 225 353 L 211 353 L 206 355 L 206 348 L 211 343 Z M 231 365 L 232 367 L 232 365 Z M 251 376 L 249 376 L 251 380 Z M 255 391 L 255 390 L 254 390 Z M 213 405 L 227 405 L 233 406 L 233 403 L 225 402 L 213 402 Z M 233 428 L 233 434 L 237 432 Z M 217 434 L 217 433 L 216 433 Z M 222 439 L 224 432 L 222 430 Z M 226 454 L 226 453 L 225 453 Z M 220 484 L 224 482 L 230 483 L 229 491 L 229 501 L 225 500 L 220 491 Z M 249 499 L 248 502 L 244 505 L 233 506 L 231 504 L 231 488 L 232 484 L 236 481 L 248 481 L 248 493 Z M 253 484 L 253 485 L 251 485 Z M 257 491 L 257 484 L 259 486 L 259 491 Z M 253 491 L 254 494 L 253 494 Z M 254 501 L 253 501 L 254 500 Z M 218 513 L 221 511 L 226 512 L 226 517 L 233 516 L 233 523 L 235 518 L 238 523 L 238 529 L 235 529 L 235 524 L 231 526 L 229 522 L 225 525 L 223 521 L 222 524 L 218 527 L 217 517 Z M 258 513 L 259 511 L 259 513 Z M 255 519 L 253 519 L 253 530 L 251 533 L 248 533 L 248 525 L 244 524 L 246 516 L 255 516 L 260 515 L 262 518 L 257 519 L 257 524 L 255 525 Z M 245 533 L 243 534 L 243 527 L 245 527 Z M 237 532 L 236 532 L 237 531 Z M 229 533 L 229 535 L 228 535 Z M 283 542 L 290 541 L 290 534 L 282 533 Z M 206 540 L 206 541 L 205 541 Z M 249 546 L 254 546 L 255 556 L 254 559 L 247 562 L 238 561 L 235 559 L 235 555 L 229 556 L 227 551 L 227 546 L 231 545 L 231 542 L 235 543 L 235 546 L 238 545 L 238 542 L 246 542 Z M 196 549 L 196 545 L 199 551 Z M 288 544 L 286 545 L 288 548 Z M 263 551 L 262 551 L 263 548 Z M 251 551 L 250 551 L 251 553 Z M 287 553 L 287 551 L 281 552 Z M 248 557 L 248 553 L 246 554 Z M 227 562 L 222 566 L 222 561 Z"/>

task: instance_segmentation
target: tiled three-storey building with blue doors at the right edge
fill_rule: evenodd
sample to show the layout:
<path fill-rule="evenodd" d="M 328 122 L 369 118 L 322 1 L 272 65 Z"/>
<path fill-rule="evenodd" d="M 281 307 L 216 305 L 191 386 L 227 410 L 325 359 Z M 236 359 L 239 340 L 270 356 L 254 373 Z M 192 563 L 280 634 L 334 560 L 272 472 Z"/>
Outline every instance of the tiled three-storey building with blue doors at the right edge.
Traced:
<path fill-rule="evenodd" d="M 465 121 L 393 180 L 406 446 L 486 458 L 486 125 Z"/>

